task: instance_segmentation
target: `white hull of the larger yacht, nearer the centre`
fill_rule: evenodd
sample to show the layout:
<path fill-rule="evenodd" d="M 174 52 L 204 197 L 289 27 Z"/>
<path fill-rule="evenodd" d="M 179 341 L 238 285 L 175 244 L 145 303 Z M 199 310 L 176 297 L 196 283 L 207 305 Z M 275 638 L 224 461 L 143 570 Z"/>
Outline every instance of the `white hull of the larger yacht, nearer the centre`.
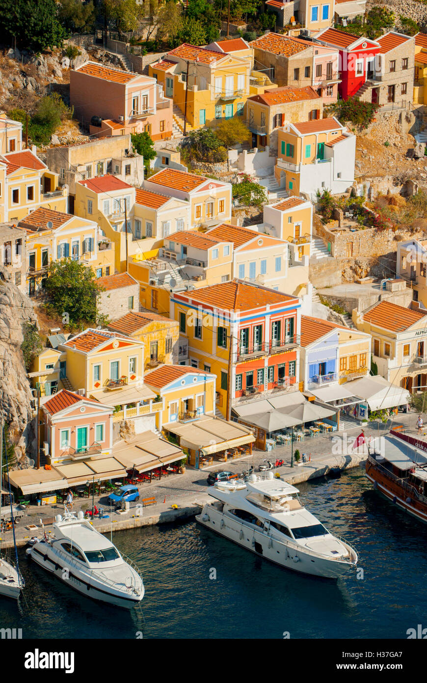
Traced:
<path fill-rule="evenodd" d="M 206 519 L 207 517 L 209 519 Z M 342 574 L 346 574 L 349 569 L 355 567 L 355 563 L 349 561 L 340 562 L 339 560 L 313 557 L 306 553 L 302 547 L 301 549 L 290 548 L 271 538 L 271 536 L 242 526 L 238 520 L 233 520 L 230 516 L 224 515 L 209 503 L 205 505 L 201 514 L 196 516 L 196 520 L 203 527 L 216 531 L 216 533 L 237 543 L 242 548 L 251 550 L 255 555 L 265 557 L 265 559 L 293 572 L 321 576 L 324 579 L 338 579 Z M 224 523 L 222 524 L 222 522 Z M 343 545 L 345 544 L 343 543 Z M 347 549 L 350 553 L 352 552 L 350 548 Z"/>

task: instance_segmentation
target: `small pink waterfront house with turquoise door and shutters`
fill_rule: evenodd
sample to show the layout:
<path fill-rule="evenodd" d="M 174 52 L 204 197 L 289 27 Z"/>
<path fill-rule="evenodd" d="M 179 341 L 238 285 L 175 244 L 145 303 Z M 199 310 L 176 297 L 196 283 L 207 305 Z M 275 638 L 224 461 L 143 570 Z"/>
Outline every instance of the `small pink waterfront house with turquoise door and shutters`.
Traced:
<path fill-rule="evenodd" d="M 111 455 L 113 406 L 61 389 L 42 405 L 41 418 L 52 464 Z"/>

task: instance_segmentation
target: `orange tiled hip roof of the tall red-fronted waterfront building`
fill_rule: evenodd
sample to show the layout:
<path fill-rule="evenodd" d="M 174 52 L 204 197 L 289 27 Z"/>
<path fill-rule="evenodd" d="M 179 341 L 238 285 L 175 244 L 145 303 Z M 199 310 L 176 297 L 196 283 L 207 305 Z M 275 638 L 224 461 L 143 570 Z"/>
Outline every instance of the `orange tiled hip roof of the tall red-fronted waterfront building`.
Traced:
<path fill-rule="evenodd" d="M 218 285 L 210 285 L 200 290 L 192 290 L 185 295 L 193 301 L 200 301 L 227 311 L 250 311 L 254 308 L 265 307 L 267 304 L 286 303 L 295 301 L 296 296 L 282 294 L 275 290 L 267 290 L 257 285 L 251 285 L 241 280 L 231 280 Z"/>

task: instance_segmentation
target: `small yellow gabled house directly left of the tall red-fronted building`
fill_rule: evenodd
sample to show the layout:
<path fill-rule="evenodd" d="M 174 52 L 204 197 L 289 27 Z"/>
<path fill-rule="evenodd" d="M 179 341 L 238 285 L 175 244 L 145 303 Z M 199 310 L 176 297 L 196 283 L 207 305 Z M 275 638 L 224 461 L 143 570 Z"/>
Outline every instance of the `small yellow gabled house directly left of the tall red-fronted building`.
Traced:
<path fill-rule="evenodd" d="M 145 382 L 163 400 L 164 408 L 156 415 L 156 427 L 190 422 L 215 411 L 216 376 L 187 365 L 160 365 L 147 372 Z"/>

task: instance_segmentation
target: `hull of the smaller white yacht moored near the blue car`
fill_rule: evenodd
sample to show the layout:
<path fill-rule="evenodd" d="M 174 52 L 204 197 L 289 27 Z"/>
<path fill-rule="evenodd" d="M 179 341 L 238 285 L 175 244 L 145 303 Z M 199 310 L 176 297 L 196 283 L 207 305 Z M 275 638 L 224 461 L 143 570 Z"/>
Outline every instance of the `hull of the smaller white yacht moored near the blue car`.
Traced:
<path fill-rule="evenodd" d="M 92 600 L 107 602 L 123 609 L 131 609 L 144 597 L 144 588 L 141 594 L 132 596 L 120 595 L 119 591 L 108 591 L 106 587 L 97 585 L 96 582 L 91 581 L 91 577 L 84 575 L 83 572 L 80 573 L 75 568 L 64 566 L 61 559 L 55 556 L 48 544 L 35 544 L 27 549 L 27 554 L 38 566 L 56 576 L 62 583 L 74 588 L 87 598 L 92 598 Z"/>

